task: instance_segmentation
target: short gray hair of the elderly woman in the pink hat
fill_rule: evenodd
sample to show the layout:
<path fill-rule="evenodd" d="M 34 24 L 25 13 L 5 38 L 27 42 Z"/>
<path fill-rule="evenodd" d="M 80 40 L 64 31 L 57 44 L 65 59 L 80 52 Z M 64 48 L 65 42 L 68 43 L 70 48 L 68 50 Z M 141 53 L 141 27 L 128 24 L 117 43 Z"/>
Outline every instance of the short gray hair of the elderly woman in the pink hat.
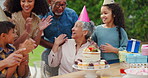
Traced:
<path fill-rule="evenodd" d="M 83 22 L 83 21 L 78 21 L 78 22 L 82 22 L 82 29 L 83 30 L 88 30 L 88 34 L 85 36 L 86 39 L 90 38 L 90 36 L 92 35 L 93 31 L 94 31 L 94 22 L 90 21 L 90 22 Z"/>

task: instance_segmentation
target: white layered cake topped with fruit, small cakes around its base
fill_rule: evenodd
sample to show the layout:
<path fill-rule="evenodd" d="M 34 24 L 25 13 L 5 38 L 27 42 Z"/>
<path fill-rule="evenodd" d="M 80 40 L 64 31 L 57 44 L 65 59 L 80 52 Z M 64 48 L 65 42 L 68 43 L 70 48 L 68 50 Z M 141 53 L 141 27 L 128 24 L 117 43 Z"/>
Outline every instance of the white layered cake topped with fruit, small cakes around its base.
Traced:
<path fill-rule="evenodd" d="M 75 65 L 80 69 L 101 69 L 105 68 L 105 60 L 100 60 L 100 50 L 91 45 L 84 49 L 82 58 L 75 61 Z"/>

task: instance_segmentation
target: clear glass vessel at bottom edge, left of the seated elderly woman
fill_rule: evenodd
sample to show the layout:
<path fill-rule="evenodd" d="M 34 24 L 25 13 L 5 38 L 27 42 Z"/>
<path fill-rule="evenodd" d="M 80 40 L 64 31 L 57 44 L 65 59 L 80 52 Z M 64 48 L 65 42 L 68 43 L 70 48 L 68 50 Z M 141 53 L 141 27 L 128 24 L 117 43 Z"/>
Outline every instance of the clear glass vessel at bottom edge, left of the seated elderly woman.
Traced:
<path fill-rule="evenodd" d="M 34 62 L 35 74 L 33 78 L 49 78 L 50 73 L 46 71 L 47 67 L 48 65 L 45 64 L 44 61 L 35 61 Z"/>

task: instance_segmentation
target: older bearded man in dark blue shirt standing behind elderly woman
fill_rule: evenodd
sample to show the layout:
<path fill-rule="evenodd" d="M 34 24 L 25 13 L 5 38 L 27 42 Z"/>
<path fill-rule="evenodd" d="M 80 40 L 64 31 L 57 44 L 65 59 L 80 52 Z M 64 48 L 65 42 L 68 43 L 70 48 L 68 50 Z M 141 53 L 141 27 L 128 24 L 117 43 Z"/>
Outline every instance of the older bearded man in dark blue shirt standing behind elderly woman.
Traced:
<path fill-rule="evenodd" d="M 76 12 L 70 8 L 67 8 L 66 0 L 48 0 L 50 4 L 50 12 L 41 18 L 46 18 L 48 15 L 52 15 L 51 25 L 44 30 L 44 36 L 41 39 L 40 45 L 47 48 L 42 53 L 42 60 L 48 64 L 48 55 L 53 46 L 54 38 L 60 34 L 67 34 L 68 38 L 71 38 L 71 29 L 78 19 Z M 52 76 L 58 75 L 58 67 L 47 69 Z"/>

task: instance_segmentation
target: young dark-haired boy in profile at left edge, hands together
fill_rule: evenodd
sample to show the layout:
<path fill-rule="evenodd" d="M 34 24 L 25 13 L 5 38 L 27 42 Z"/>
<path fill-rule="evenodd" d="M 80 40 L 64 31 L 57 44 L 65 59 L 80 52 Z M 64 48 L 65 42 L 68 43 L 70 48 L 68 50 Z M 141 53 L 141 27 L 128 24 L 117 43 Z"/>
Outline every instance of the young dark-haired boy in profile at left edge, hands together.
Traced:
<path fill-rule="evenodd" d="M 25 72 L 26 65 L 28 65 L 27 57 L 28 53 L 35 48 L 35 42 L 31 39 L 26 40 L 21 44 L 20 49 L 15 51 L 15 47 L 12 45 L 16 37 L 14 28 L 15 25 L 11 22 L 0 21 L 0 63 L 8 61 L 10 58 L 12 58 L 10 63 L 14 61 L 12 65 L 0 65 L 0 78 L 18 78 L 28 73 Z"/>

